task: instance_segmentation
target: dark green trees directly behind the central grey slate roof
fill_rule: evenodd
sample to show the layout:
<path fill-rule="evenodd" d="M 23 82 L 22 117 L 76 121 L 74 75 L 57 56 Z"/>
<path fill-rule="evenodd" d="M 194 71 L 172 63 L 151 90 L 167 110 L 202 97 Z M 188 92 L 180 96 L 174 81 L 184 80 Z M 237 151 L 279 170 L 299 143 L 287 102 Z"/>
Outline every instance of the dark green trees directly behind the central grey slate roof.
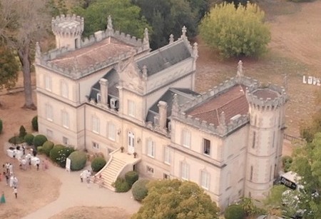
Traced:
<path fill-rule="evenodd" d="M 198 21 L 207 6 L 200 0 L 133 0 L 133 3 L 141 8 L 142 16 L 153 27 L 152 49 L 168 44 L 170 34 L 175 39 L 180 37 L 183 26 L 187 27 L 189 37 L 196 36 Z M 196 8 L 192 9 L 191 5 Z"/>

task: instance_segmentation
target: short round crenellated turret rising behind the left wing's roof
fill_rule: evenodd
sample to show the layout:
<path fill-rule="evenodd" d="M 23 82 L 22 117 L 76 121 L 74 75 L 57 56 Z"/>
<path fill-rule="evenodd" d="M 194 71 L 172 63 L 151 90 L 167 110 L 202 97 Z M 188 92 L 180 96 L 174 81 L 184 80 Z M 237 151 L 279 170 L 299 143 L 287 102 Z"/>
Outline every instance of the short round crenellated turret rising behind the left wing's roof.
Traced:
<path fill-rule="evenodd" d="M 83 33 L 83 18 L 70 15 L 56 16 L 51 21 L 51 29 L 56 36 L 56 48 L 67 47 L 69 51 L 81 47 L 81 34 Z"/>

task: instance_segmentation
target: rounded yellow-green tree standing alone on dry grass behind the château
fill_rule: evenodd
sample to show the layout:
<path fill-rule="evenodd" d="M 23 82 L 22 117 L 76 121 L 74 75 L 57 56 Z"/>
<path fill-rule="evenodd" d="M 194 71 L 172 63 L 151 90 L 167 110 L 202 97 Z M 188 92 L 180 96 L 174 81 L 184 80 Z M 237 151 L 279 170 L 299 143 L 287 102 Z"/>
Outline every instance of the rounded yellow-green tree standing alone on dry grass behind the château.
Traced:
<path fill-rule="evenodd" d="M 257 4 L 239 5 L 237 9 L 234 4 L 217 4 L 201 21 L 200 36 L 223 58 L 260 56 L 270 42 L 264 17 Z"/>

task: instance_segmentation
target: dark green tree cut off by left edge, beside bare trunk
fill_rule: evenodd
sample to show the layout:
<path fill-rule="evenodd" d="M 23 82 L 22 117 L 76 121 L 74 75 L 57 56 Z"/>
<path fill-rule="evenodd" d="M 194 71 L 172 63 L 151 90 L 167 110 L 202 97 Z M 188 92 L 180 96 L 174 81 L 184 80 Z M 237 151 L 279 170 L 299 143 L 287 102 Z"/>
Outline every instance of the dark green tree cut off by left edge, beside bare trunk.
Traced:
<path fill-rule="evenodd" d="M 0 91 L 16 86 L 18 71 L 19 64 L 13 51 L 7 46 L 0 46 Z"/>

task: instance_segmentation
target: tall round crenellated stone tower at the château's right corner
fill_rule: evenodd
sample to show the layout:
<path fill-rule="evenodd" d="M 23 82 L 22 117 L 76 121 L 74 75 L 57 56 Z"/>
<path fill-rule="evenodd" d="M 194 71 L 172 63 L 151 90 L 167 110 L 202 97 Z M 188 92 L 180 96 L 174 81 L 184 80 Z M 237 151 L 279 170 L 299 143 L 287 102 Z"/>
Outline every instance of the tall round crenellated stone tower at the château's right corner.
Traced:
<path fill-rule="evenodd" d="M 247 88 L 246 98 L 250 128 L 245 196 L 263 198 L 280 168 L 287 94 L 279 86 L 253 85 Z"/>

